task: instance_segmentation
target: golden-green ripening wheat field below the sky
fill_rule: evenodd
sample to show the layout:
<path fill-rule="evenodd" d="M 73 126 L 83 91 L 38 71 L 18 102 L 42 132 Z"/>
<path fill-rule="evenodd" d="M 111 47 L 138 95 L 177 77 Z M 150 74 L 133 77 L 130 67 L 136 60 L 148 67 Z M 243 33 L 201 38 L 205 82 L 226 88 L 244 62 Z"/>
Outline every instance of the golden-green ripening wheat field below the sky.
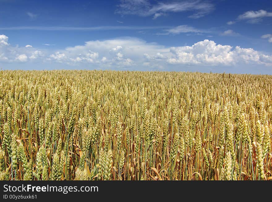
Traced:
<path fill-rule="evenodd" d="M 1 180 L 271 180 L 272 76 L 0 71 Z"/>

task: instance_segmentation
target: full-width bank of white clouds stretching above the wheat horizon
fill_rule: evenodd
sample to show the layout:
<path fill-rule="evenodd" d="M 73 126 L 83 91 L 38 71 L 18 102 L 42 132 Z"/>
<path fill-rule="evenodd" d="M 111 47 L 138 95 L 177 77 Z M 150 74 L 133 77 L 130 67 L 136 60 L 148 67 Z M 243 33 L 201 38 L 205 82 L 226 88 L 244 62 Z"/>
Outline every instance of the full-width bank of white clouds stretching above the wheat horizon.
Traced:
<path fill-rule="evenodd" d="M 270 34 L 262 38 L 270 39 Z M 216 44 L 211 40 L 193 45 L 166 47 L 147 43 L 138 38 L 123 37 L 110 40 L 87 41 L 84 45 L 59 50 L 38 50 L 8 44 L 8 37 L 1 37 L 0 64 L 25 62 L 45 64 L 46 67 L 98 69 L 162 69 L 176 70 L 185 66 L 204 67 L 254 67 L 272 66 L 272 56 L 252 48 Z M 63 66 L 61 66 L 63 65 Z"/>

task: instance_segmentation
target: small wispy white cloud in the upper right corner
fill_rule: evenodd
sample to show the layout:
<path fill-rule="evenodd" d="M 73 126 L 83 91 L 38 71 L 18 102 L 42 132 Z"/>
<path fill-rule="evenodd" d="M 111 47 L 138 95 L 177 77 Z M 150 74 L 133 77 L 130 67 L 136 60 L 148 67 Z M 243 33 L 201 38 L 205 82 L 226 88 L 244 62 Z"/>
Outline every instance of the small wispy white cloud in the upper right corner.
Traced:
<path fill-rule="evenodd" d="M 256 24 L 262 21 L 262 18 L 272 17 L 272 12 L 267 12 L 265 10 L 259 11 L 246 11 L 243 14 L 239 15 L 235 21 L 227 22 L 228 25 L 235 24 L 241 20 L 247 20 L 248 23 Z"/>

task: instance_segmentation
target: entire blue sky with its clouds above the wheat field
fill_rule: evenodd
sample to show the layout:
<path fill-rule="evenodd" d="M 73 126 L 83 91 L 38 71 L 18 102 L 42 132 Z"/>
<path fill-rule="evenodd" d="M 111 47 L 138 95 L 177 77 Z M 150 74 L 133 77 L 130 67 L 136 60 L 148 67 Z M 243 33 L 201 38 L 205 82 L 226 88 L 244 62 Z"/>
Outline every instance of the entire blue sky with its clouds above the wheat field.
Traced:
<path fill-rule="evenodd" d="M 272 74 L 272 2 L 0 0 L 0 68 Z"/>

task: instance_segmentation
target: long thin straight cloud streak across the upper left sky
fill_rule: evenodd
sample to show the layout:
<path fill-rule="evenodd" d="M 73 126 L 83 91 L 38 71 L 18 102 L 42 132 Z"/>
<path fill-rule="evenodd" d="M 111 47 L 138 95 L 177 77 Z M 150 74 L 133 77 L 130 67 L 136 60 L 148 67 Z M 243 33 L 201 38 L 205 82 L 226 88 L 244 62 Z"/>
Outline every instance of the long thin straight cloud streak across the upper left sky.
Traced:
<path fill-rule="evenodd" d="M 164 29 L 169 26 L 99 26 L 99 27 L 43 27 L 43 26 L 18 26 L 18 27 L 0 27 L 0 30 L 48 30 L 48 31 L 100 31 L 100 30 L 141 30 L 141 29 Z"/>

